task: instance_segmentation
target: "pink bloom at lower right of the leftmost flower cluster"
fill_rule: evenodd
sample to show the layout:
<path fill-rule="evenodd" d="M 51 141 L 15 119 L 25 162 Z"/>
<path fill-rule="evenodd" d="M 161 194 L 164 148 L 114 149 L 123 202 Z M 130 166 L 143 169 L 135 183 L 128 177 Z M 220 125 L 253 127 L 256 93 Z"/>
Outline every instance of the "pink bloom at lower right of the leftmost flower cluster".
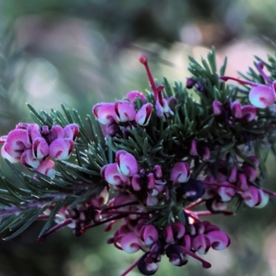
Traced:
<path fill-rule="evenodd" d="M 57 160 L 66 160 L 74 147 L 74 142 L 68 138 L 55 139 L 49 146 L 49 155 Z"/>

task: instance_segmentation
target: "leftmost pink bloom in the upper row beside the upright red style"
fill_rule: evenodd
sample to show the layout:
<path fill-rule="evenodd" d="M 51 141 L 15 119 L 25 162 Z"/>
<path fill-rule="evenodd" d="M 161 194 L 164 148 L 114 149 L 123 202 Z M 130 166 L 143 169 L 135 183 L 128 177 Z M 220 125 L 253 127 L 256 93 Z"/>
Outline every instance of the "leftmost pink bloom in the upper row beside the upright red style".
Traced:
<path fill-rule="evenodd" d="M 116 121 L 114 106 L 114 103 L 97 103 L 93 106 L 92 112 L 101 124 L 109 125 Z"/>

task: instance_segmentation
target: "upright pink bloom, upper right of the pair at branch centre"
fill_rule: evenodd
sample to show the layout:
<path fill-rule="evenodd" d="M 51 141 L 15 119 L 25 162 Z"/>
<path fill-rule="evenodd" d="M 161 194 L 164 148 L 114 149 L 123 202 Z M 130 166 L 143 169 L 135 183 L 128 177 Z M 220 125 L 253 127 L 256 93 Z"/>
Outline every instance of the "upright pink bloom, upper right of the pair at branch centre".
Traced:
<path fill-rule="evenodd" d="M 116 152 L 116 161 L 118 171 L 121 172 L 122 175 L 132 177 L 137 174 L 139 170 L 138 164 L 135 157 L 130 155 L 130 153 L 125 150 L 118 150 Z"/>

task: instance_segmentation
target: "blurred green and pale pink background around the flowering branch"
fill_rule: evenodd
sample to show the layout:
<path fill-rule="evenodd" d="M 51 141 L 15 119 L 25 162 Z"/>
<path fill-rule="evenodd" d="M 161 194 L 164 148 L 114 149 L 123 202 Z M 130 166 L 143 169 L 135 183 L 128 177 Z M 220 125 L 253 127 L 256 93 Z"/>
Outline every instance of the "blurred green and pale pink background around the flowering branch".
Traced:
<path fill-rule="evenodd" d="M 26 102 L 38 110 L 65 103 L 84 117 L 96 102 L 143 92 L 141 54 L 156 78 L 173 83 L 189 76 L 188 55 L 199 60 L 215 46 L 217 63 L 227 55 L 227 74 L 237 76 L 253 66 L 254 55 L 266 59 L 275 50 L 275 14 L 275 0 L 0 0 L 0 135 L 31 121 Z M 273 157 L 267 165 L 268 188 L 276 190 Z M 164 257 L 156 275 L 276 275 L 275 209 L 270 202 L 212 218 L 232 239 L 228 249 L 204 256 L 213 267 L 191 259 L 178 268 Z M 83 237 L 63 229 L 39 244 L 41 227 L 0 242 L 0 276 L 117 276 L 141 255 L 107 245 L 103 228 Z"/>

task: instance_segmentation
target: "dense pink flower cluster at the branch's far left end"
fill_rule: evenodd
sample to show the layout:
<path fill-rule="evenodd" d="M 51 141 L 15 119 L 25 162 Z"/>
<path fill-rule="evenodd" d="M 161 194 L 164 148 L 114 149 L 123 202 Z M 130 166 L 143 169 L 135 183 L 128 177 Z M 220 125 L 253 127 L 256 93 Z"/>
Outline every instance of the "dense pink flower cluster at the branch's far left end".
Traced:
<path fill-rule="evenodd" d="M 11 163 L 21 162 L 43 175 L 54 177 L 55 163 L 50 158 L 68 159 L 78 133 L 77 124 L 65 128 L 55 125 L 49 130 L 48 126 L 20 123 L 8 135 L 0 137 L 1 155 Z"/>

